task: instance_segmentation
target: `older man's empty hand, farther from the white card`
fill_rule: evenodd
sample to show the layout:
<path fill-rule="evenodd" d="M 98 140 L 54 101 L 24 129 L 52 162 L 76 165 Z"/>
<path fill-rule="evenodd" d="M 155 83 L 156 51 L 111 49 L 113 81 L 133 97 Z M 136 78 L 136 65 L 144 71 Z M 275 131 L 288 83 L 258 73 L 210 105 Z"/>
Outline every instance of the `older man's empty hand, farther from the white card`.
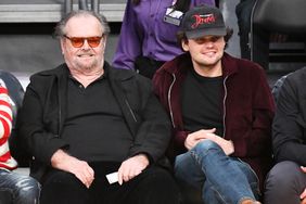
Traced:
<path fill-rule="evenodd" d="M 54 168 L 72 173 L 87 188 L 89 188 L 94 179 L 94 171 L 87 162 L 80 161 L 65 153 L 63 150 L 58 150 L 51 157 L 51 165 Z"/>

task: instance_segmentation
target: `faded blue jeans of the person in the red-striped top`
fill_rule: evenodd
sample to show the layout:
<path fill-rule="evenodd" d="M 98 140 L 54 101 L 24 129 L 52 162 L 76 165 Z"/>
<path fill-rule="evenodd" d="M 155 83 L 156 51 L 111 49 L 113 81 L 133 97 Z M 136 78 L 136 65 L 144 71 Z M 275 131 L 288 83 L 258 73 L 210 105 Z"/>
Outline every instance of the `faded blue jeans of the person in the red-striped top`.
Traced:
<path fill-rule="evenodd" d="M 8 192 L 14 204 L 37 204 L 40 184 L 29 176 L 0 169 L 0 192 Z"/>

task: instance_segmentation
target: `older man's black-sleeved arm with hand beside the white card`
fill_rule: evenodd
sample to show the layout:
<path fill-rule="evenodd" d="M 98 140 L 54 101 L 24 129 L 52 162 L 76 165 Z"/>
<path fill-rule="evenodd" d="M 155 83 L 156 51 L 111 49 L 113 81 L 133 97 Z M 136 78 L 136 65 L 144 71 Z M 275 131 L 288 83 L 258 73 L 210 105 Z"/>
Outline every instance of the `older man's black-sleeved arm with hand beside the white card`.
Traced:
<path fill-rule="evenodd" d="M 165 154 L 170 140 L 170 123 L 168 116 L 156 97 L 150 89 L 145 89 L 142 99 L 144 107 L 141 112 L 141 124 L 135 136 L 130 149 L 130 157 L 122 163 L 118 169 L 118 181 L 128 181 L 138 176 L 151 163 L 157 162 Z"/>

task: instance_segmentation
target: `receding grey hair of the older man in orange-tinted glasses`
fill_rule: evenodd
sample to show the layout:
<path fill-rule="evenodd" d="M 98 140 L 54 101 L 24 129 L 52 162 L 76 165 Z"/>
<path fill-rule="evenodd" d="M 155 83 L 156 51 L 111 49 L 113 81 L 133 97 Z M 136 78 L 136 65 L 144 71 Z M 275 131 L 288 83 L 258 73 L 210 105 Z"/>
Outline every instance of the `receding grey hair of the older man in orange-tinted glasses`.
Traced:
<path fill-rule="evenodd" d="M 93 16 L 95 17 L 102 26 L 102 29 L 104 30 L 104 35 L 109 35 L 111 31 L 111 28 L 109 26 L 107 20 L 104 15 L 102 14 L 98 14 L 95 12 L 92 11 L 87 11 L 87 10 L 78 10 L 78 11 L 72 11 L 71 13 L 68 13 L 67 15 L 65 15 L 55 26 L 55 30 L 54 30 L 54 36 L 62 38 L 63 36 L 66 35 L 66 24 L 67 22 L 72 18 L 72 17 L 76 17 L 76 16 Z"/>

